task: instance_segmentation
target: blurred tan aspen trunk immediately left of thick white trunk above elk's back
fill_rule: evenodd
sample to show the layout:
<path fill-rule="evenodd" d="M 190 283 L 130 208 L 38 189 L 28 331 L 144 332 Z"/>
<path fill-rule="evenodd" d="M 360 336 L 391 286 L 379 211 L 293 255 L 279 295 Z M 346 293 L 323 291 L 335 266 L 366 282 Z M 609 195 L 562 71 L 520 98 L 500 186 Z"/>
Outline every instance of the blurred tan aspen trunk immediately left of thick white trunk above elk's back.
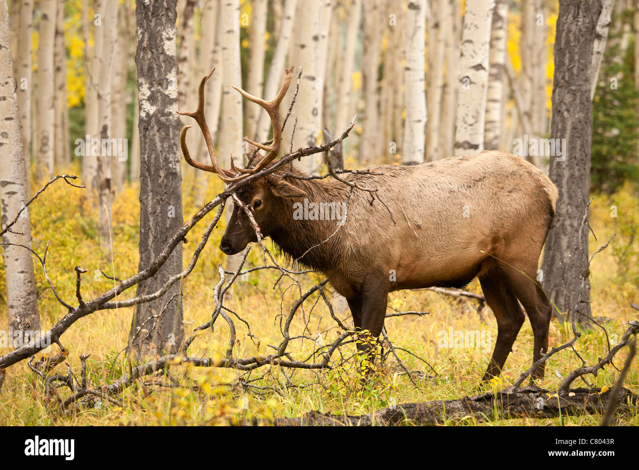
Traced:
<path fill-rule="evenodd" d="M 449 0 L 443 18 L 442 30 L 445 36 L 444 56 L 446 58 L 446 77 L 442 93 L 442 123 L 440 124 L 440 146 L 442 156 L 450 157 L 454 153 L 455 121 L 457 116 L 457 97 L 459 93 L 459 48 L 461 42 L 461 14 L 459 0 Z"/>

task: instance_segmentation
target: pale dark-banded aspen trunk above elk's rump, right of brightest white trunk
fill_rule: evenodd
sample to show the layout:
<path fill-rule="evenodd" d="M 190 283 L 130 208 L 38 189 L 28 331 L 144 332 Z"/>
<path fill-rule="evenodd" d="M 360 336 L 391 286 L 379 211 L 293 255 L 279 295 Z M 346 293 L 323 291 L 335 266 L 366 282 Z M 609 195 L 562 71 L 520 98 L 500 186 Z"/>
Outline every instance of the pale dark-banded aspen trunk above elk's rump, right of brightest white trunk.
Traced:
<path fill-rule="evenodd" d="M 491 27 L 489 79 L 486 92 L 486 123 L 484 123 L 484 148 L 500 149 L 502 116 L 505 108 L 504 81 L 507 46 L 508 0 L 497 0 Z"/>

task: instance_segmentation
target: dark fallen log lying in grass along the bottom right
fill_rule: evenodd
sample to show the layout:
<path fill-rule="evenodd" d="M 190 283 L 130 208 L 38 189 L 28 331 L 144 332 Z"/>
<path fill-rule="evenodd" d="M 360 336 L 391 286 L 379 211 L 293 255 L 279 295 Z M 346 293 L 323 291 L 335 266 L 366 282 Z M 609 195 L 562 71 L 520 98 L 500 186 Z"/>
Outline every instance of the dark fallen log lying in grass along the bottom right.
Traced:
<path fill-rule="evenodd" d="M 404 403 L 361 416 L 335 415 L 311 411 L 298 418 L 276 418 L 260 424 L 275 426 L 392 426 L 442 425 L 450 419 L 473 418 L 479 422 L 513 418 L 557 418 L 597 414 L 606 409 L 612 390 L 572 389 L 567 394 L 536 386 L 483 393 L 458 400 L 435 400 L 425 403 Z M 617 396 L 619 411 L 637 412 L 639 396 L 622 388 Z M 253 423 L 256 424 L 256 423 Z"/>

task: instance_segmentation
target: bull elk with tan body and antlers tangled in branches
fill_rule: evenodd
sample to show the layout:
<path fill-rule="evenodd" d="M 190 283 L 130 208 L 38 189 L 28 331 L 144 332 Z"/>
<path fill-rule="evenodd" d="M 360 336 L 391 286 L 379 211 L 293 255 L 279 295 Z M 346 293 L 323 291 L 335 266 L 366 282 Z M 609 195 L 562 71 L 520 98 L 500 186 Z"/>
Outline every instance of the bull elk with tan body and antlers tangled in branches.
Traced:
<path fill-rule="evenodd" d="M 215 69 L 213 69 L 215 70 Z M 245 141 L 265 150 L 252 168 L 220 168 L 204 120 L 204 84 L 192 116 L 204 134 L 211 165 L 193 161 L 180 142 L 186 161 L 233 183 L 267 168 L 277 157 L 282 139 L 279 105 L 288 90 L 293 68 L 272 101 L 235 88 L 263 107 L 272 120 L 269 145 Z M 483 380 L 497 376 L 511 351 L 525 315 L 534 333 L 533 363 L 548 349 L 551 303 L 532 279 L 555 213 L 557 189 L 543 172 L 505 152 L 481 152 L 415 166 L 381 165 L 369 174 L 348 173 L 343 179 L 375 191 L 352 191 L 334 178 L 300 179 L 297 169 L 277 168 L 236 192 L 241 205 L 220 242 L 226 255 L 242 251 L 257 236 L 250 210 L 263 237 L 281 251 L 327 276 L 346 297 L 356 331 L 378 338 L 384 324 L 389 292 L 429 286 L 461 287 L 479 278 L 486 302 L 497 317 L 498 334 Z M 288 172 L 288 173 L 287 173 Z M 286 173 L 286 174 L 285 174 Z M 299 208 L 346 203 L 343 219 L 299 217 Z M 318 215 L 315 214 L 314 215 Z M 336 230 L 339 226 L 339 230 Z M 366 347 L 362 347 L 366 349 Z M 532 377 L 543 379 L 544 366 Z"/>

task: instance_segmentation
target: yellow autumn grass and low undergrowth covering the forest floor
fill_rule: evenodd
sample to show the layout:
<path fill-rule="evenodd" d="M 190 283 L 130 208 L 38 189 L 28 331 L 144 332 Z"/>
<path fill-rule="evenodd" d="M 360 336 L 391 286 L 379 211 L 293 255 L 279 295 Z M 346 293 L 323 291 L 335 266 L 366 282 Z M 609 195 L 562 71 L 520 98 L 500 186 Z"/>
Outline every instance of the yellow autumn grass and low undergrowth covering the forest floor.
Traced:
<path fill-rule="evenodd" d="M 215 178 L 211 177 L 210 182 Z M 184 219 L 196 212 L 199 205 L 192 194 L 189 178 L 185 177 L 183 201 Z M 37 187 L 37 185 L 33 185 Z M 210 196 L 219 191 L 220 185 L 210 187 Z M 51 242 L 47 267 L 52 283 L 66 301 L 75 300 L 75 272 L 73 267 L 81 265 L 88 269 L 83 277 L 83 297 L 90 299 L 113 286 L 100 275 L 98 269 L 107 273 L 114 272 L 118 278 L 125 278 L 137 272 L 137 242 L 139 232 L 139 202 L 137 188 L 126 187 L 116 197 L 113 205 L 112 257 L 105 261 L 98 251 L 96 230 L 95 199 L 83 189 L 60 184 L 51 187 L 40 196 L 31 207 L 33 225 L 33 248 L 42 253 L 47 241 Z M 624 188 L 613 196 L 594 195 L 590 224 L 598 241 L 590 235 L 590 251 L 604 244 L 614 233 L 610 246 L 599 253 L 591 266 L 592 314 L 610 334 L 611 342 L 619 340 L 627 329 L 626 323 L 639 318 L 639 311 L 630 307 L 631 302 L 639 303 L 639 242 L 634 239 L 639 226 L 639 207 L 629 188 Z M 616 206 L 617 217 L 612 217 Z M 192 250 L 201 237 L 206 224 L 213 214 L 199 223 L 192 231 L 189 243 L 183 245 L 183 260 L 189 262 Z M 210 320 L 213 304 L 212 289 L 218 283 L 217 267 L 224 262 L 219 251 L 219 240 L 224 232 L 224 222 L 213 231 L 207 246 L 194 271 L 183 282 L 183 310 L 185 334 L 188 336 L 195 327 Z M 266 243 L 270 249 L 272 244 Z M 272 249 L 275 253 L 275 249 Z M 247 260 L 249 265 L 261 263 L 259 247 L 254 246 Z M 42 329 L 49 329 L 65 315 L 65 309 L 56 302 L 48 288 L 40 265 L 35 263 L 36 281 L 40 296 L 40 315 Z M 285 313 L 299 297 L 291 281 L 282 279 L 275 288 L 273 285 L 279 272 L 257 271 L 248 278 L 237 281 L 232 296 L 225 305 L 237 312 L 250 324 L 249 329 L 243 322 L 236 321 L 238 327 L 234 357 L 249 357 L 268 354 L 266 345 L 277 345 L 282 336 L 278 317 Z M 298 276 L 305 290 L 321 281 L 321 276 L 311 274 Z M 4 289 L 4 274 L 0 274 L 0 292 Z M 466 288 L 470 292 L 481 293 L 477 280 Z M 132 297 L 134 293 L 124 297 Z M 291 336 L 301 334 L 306 325 L 307 336 L 318 341 L 330 342 L 335 339 L 335 329 L 321 334 L 335 326 L 328 309 L 314 294 L 305 302 L 305 311 L 298 311 L 291 324 Z M 0 325 L 7 324 L 6 301 L 1 299 Z M 422 317 L 394 317 L 387 319 L 386 327 L 389 339 L 395 347 L 410 351 L 432 366 L 432 369 L 417 357 L 403 350 L 397 350 L 401 361 L 408 370 L 419 371 L 412 375 L 415 385 L 404 373 L 396 359 L 390 354 L 384 364 L 378 366 L 369 386 L 362 386 L 355 361 L 346 361 L 332 370 L 282 370 L 272 367 L 261 380 L 251 382 L 255 388 L 236 386 L 237 378 L 255 379 L 263 375 L 267 368 L 252 372 L 250 377 L 242 372 L 222 368 L 199 368 L 194 366 L 173 365 L 170 368 L 174 386 L 167 386 L 167 377 L 148 377 L 145 382 L 155 380 L 159 383 L 148 386 L 135 386 L 116 395 L 119 404 L 103 402 L 96 405 L 92 400 L 84 406 L 68 407 L 61 412 L 54 402 L 47 403 L 44 396 L 43 380 L 31 372 L 26 363 L 19 363 L 6 370 L 6 379 L 0 392 L 0 425 L 196 425 L 227 424 L 247 418 L 271 418 L 301 416 L 308 411 L 317 410 L 335 414 L 366 414 L 387 406 L 406 402 L 426 402 L 429 400 L 452 400 L 463 396 L 478 395 L 484 391 L 498 391 L 511 385 L 532 363 L 533 335 L 528 320 L 514 343 L 512 353 L 505 364 L 499 379 L 480 386 L 480 380 L 497 338 L 497 323 L 490 309 L 485 308 L 481 315 L 475 309 L 472 299 L 459 300 L 442 297 L 436 292 L 394 292 L 390 295 L 389 311 L 428 311 Z M 127 372 L 128 334 L 131 327 L 133 308 L 117 311 L 98 311 L 82 318 L 61 338 L 68 349 L 66 363 L 79 377 L 81 361 L 79 356 L 91 354 L 87 361 L 89 384 L 99 386 L 119 379 Z M 351 325 L 348 311 L 337 312 L 345 324 Z M 221 320 L 221 318 L 220 318 Z M 310 320 L 310 321 L 309 321 Z M 308 322 L 308 323 L 307 323 Z M 477 331 L 483 343 L 474 347 L 454 345 L 442 346 L 443 338 L 452 333 Z M 224 322 L 217 322 L 214 331 L 205 331 L 199 335 L 189 349 L 193 357 L 221 358 L 226 354 L 229 330 Z M 566 343 L 573 337 L 569 324 L 560 324 L 553 319 L 550 324 L 550 347 Z M 258 339 L 259 338 L 259 339 Z M 291 345 L 293 356 L 304 357 L 311 352 L 314 342 L 296 341 Z M 608 351 L 606 335 L 598 327 L 583 332 L 575 345 L 576 351 L 587 364 L 594 364 Z M 1 349 L 5 354 L 9 349 Z M 341 350 L 344 356 L 353 352 L 353 344 Z M 272 352 L 272 350 L 270 351 Z M 48 354 L 58 353 L 56 345 L 50 347 Z M 621 368 L 627 348 L 615 357 L 615 365 Z M 38 355 L 38 358 L 41 355 Z M 45 354 L 47 356 L 47 354 Z M 639 394 L 639 361 L 635 358 L 626 377 L 625 386 Z M 551 357 L 546 365 L 546 377 L 543 388 L 556 390 L 567 373 L 581 366 L 581 361 L 570 349 L 562 350 Z M 66 373 L 65 364 L 60 364 L 54 372 Z M 596 387 L 612 388 L 619 372 L 606 366 L 597 377 L 587 377 Z M 177 384 L 177 386 L 176 386 Z M 193 387 L 197 384 L 197 387 Z M 231 384 L 228 386 L 226 384 Z M 287 385 L 288 384 L 288 385 Z M 577 380 L 573 386 L 583 386 Z M 259 388 L 258 388 L 259 387 Z M 277 389 L 277 393 L 273 391 Z M 64 399 L 68 390 L 58 389 Z M 480 423 L 477 419 L 450 419 L 444 425 L 598 425 L 601 416 L 564 416 L 556 419 L 498 419 L 491 423 Z M 618 418 L 623 425 L 639 425 L 639 415 L 627 414 Z"/>

